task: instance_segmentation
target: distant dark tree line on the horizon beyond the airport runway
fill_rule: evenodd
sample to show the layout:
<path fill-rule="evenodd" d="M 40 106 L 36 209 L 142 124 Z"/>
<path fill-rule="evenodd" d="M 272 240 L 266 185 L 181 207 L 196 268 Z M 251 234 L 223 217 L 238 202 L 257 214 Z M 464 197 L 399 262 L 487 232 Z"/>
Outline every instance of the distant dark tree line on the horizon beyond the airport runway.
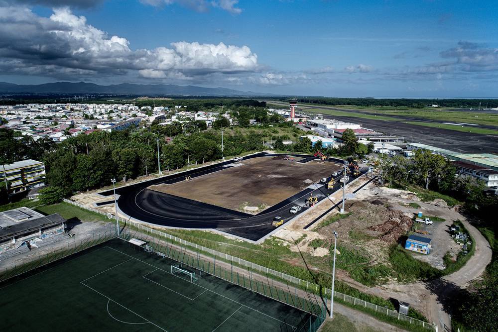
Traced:
<path fill-rule="evenodd" d="M 287 99 L 279 99 L 287 101 Z M 441 107 L 454 108 L 478 108 L 498 107 L 496 99 L 376 99 L 376 98 L 322 98 L 322 97 L 302 97 L 297 98 L 298 103 L 308 103 L 317 105 L 352 105 L 352 106 L 389 106 L 389 107 L 412 107 L 424 108 L 428 105 L 439 105 Z"/>

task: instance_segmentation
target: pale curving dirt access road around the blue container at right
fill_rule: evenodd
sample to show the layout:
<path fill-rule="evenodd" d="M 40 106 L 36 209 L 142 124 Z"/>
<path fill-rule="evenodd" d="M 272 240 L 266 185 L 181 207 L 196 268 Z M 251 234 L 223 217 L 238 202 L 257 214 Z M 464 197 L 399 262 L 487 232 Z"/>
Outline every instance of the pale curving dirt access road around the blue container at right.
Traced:
<path fill-rule="evenodd" d="M 389 195 L 385 192 L 375 195 L 374 189 L 373 185 L 369 185 L 362 189 L 361 193 L 364 197 L 374 195 L 374 197 L 385 198 L 390 203 L 417 203 L 425 211 L 428 211 L 428 214 L 444 216 L 447 221 L 462 221 L 474 238 L 476 245 L 475 253 L 460 270 L 428 282 L 420 281 L 407 285 L 387 284 L 370 288 L 359 284 L 349 277 L 342 279 L 345 279 L 344 281 L 354 287 L 360 288 L 366 293 L 386 299 L 391 297 L 399 301 L 408 302 L 412 307 L 420 310 L 429 322 L 439 325 L 443 329 L 441 331 L 451 331 L 450 309 L 453 296 L 457 291 L 467 288 L 473 280 L 479 279 L 482 276 L 486 266 L 491 262 L 492 250 L 490 244 L 481 232 L 470 224 L 458 211 L 446 207 L 437 207 L 430 203 L 402 199 L 395 194 Z"/>

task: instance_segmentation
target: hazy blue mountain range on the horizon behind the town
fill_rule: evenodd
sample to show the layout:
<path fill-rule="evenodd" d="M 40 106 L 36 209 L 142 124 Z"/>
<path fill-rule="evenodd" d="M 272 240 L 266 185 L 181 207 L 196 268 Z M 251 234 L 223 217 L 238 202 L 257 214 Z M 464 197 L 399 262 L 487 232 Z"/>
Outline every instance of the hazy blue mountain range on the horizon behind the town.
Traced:
<path fill-rule="evenodd" d="M 217 97 L 250 97 L 274 96 L 252 91 L 238 91 L 225 88 L 204 88 L 193 85 L 180 86 L 172 84 L 113 84 L 98 85 L 85 82 L 55 82 L 44 84 L 18 85 L 0 82 L 0 93 L 31 94 L 113 94 L 135 96 L 217 96 Z"/>

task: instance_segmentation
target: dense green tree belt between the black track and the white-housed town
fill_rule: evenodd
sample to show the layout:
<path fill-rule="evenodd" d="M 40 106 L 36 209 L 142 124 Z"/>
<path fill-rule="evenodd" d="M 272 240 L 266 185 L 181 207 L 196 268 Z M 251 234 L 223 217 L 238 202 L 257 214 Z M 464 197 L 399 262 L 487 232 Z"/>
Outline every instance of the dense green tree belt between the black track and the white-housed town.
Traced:
<path fill-rule="evenodd" d="M 69 136 L 60 144 L 48 138 L 34 141 L 13 130 L 0 129 L 1 164 L 23 159 L 42 160 L 46 167 L 47 183 L 60 188 L 63 195 L 75 191 L 101 188 L 111 183 L 111 178 L 127 181 L 137 176 L 158 170 L 157 153 L 162 170 L 173 170 L 189 164 L 202 164 L 220 159 L 222 155 L 239 155 L 246 151 L 259 151 L 264 148 L 268 137 L 275 137 L 278 130 L 268 126 L 292 126 L 280 116 L 268 116 L 263 108 L 234 107 L 231 115 L 236 127 L 220 116 L 215 128 L 207 129 L 205 121 L 187 119 L 183 123 L 173 121 L 161 125 L 152 123 L 150 127 L 130 127 L 122 131 L 96 131 L 89 135 Z M 261 125 L 249 130 L 249 119 L 254 118 Z M 222 153 L 221 128 L 230 128 L 224 135 Z M 299 129 L 295 128 L 293 130 Z M 6 201 L 6 190 L 0 189 L 0 199 Z"/>

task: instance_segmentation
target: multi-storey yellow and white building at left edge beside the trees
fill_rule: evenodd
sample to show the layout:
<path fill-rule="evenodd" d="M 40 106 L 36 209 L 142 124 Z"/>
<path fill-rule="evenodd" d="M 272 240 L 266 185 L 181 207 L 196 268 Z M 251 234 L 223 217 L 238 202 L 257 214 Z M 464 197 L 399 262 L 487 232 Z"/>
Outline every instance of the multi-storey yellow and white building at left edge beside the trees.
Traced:
<path fill-rule="evenodd" d="M 0 182 L 8 184 L 9 193 L 17 193 L 45 185 L 45 164 L 26 159 L 12 164 L 1 165 Z"/>

